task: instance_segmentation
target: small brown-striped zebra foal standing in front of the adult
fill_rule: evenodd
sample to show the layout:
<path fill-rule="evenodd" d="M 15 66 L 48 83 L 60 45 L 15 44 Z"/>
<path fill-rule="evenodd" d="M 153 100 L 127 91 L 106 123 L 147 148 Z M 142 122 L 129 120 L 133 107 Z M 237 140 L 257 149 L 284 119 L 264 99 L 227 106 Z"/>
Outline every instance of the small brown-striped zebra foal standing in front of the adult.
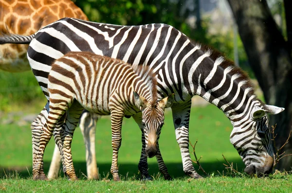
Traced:
<path fill-rule="evenodd" d="M 40 139 L 39 156 L 33 166 L 37 179 L 42 155 L 52 133 L 60 150 L 64 173 L 77 179 L 71 155 L 74 129 L 84 109 L 98 115 L 110 115 L 112 131 L 112 165 L 118 175 L 118 151 L 121 146 L 123 117 L 133 117 L 142 130 L 143 156 L 156 156 L 159 169 L 170 178 L 159 150 L 159 136 L 164 124 L 164 108 L 170 107 L 174 95 L 158 101 L 155 74 L 145 67 L 133 67 L 122 60 L 89 52 L 71 52 L 57 59 L 48 77 L 49 115 Z M 139 94 L 138 94 L 139 93 Z M 61 119 L 67 113 L 65 123 Z M 61 119 L 61 122 L 60 122 Z M 143 171 L 141 171 L 143 174 Z"/>

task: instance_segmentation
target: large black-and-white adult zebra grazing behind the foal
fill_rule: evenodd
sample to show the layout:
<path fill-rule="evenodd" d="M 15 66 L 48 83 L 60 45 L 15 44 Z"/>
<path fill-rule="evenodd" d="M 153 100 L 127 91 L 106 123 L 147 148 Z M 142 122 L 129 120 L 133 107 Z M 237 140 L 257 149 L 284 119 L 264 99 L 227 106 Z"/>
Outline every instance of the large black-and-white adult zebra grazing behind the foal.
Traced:
<path fill-rule="evenodd" d="M 262 103 L 242 70 L 219 53 L 192 43 L 172 26 L 118 26 L 63 18 L 35 35 L 0 39 L 0 43 L 29 42 L 28 59 L 45 94 L 51 64 L 70 51 L 89 51 L 133 65 L 149 66 L 158 74 L 160 97 L 175 93 L 176 101 L 171 108 L 185 174 L 200 176 L 192 165 L 188 149 L 194 95 L 218 106 L 230 119 L 234 127 L 230 141 L 246 165 L 247 173 L 263 175 L 272 171 L 274 153 L 267 113 L 277 114 L 284 108 Z M 45 110 L 43 112 L 40 117 L 46 116 Z M 35 126 L 36 136 L 37 129 Z M 37 140 L 35 144 L 37 147 Z"/>

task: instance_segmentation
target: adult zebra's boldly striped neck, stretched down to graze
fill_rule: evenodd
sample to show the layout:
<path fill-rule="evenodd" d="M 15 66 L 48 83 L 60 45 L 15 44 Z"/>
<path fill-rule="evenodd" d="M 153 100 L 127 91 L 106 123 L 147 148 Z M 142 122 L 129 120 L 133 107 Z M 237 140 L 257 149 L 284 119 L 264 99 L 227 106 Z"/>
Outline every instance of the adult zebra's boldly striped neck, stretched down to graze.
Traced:
<path fill-rule="evenodd" d="M 236 119 L 257 101 L 254 89 L 242 70 L 221 56 L 212 59 L 211 54 L 203 53 L 189 70 L 192 93 L 216 105 L 230 120 Z"/>

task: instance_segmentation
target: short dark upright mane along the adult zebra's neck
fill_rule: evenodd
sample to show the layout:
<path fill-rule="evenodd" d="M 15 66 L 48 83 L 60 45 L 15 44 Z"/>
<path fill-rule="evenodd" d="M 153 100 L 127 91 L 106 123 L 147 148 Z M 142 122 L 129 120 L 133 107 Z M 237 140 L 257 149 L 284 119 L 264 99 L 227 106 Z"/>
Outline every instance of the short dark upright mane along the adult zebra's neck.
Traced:
<path fill-rule="evenodd" d="M 222 62 L 220 63 L 219 66 L 222 69 L 230 68 L 231 70 L 228 72 L 228 74 L 230 74 L 230 75 L 237 74 L 238 83 L 241 82 L 241 81 L 243 82 L 243 85 L 241 86 L 241 88 L 249 89 L 249 92 L 248 92 L 249 95 L 256 95 L 255 94 L 254 84 L 251 82 L 251 79 L 250 79 L 249 75 L 244 70 L 242 70 L 241 68 L 237 67 L 232 60 L 228 59 L 223 53 L 219 52 L 217 49 L 215 49 L 215 48 L 213 48 L 211 46 L 198 44 L 198 43 L 194 43 L 194 42 L 192 42 L 192 43 L 194 45 L 200 45 L 201 51 L 204 52 L 204 53 L 208 53 L 209 54 L 209 58 L 212 59 L 214 62 L 216 60 L 221 60 Z"/>

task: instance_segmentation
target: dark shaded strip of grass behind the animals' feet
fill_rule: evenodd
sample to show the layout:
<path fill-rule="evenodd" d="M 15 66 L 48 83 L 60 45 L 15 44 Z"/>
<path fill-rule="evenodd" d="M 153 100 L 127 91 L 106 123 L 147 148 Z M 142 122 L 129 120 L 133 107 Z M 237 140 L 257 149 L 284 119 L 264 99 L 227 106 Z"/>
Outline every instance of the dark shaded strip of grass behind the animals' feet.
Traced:
<path fill-rule="evenodd" d="M 231 159 L 228 161 L 230 163 L 233 162 L 234 168 L 237 169 L 238 172 L 243 171 L 244 164 L 243 164 L 241 159 Z M 180 177 L 186 176 L 183 172 L 182 162 L 165 163 L 165 164 L 167 166 L 169 174 L 173 178 L 180 178 Z M 101 178 L 106 177 L 108 173 L 109 173 L 109 175 L 108 175 L 109 178 L 112 177 L 112 175 L 110 174 L 110 166 L 111 166 L 111 163 L 97 164 Z M 223 162 L 219 162 L 219 161 L 201 162 L 201 166 L 209 175 L 211 175 L 212 173 L 214 173 L 214 175 L 222 175 L 222 174 L 226 175 L 227 174 L 227 170 L 225 169 L 226 166 L 223 165 Z M 45 167 L 44 168 L 45 173 L 47 174 L 49 167 L 50 167 L 50 162 L 44 162 L 44 167 Z M 201 172 L 201 170 L 199 170 L 198 165 L 194 164 L 194 167 L 200 175 L 204 176 L 204 174 Z M 74 168 L 75 168 L 76 175 L 78 176 L 78 178 L 85 177 L 84 176 L 84 175 L 86 175 L 86 163 L 85 162 L 75 161 Z M 154 175 L 154 176 L 158 175 L 159 169 L 158 169 L 157 163 L 149 163 L 148 168 L 149 168 L 149 175 Z M 27 177 L 30 177 L 32 175 L 32 167 L 9 167 L 9 168 L 6 167 L 5 168 L 5 167 L 0 166 L 0 177 L 3 178 L 5 176 L 5 174 L 7 176 L 15 176 L 16 175 L 15 171 L 17 171 L 18 176 L 20 178 L 27 178 Z M 119 164 L 119 174 L 121 176 L 124 176 L 124 177 L 127 176 L 130 178 L 135 177 L 135 176 L 139 177 L 140 175 L 138 173 L 138 163 L 137 164 L 120 163 Z M 61 172 L 61 170 L 60 170 L 60 175 L 63 176 L 63 172 Z"/>

